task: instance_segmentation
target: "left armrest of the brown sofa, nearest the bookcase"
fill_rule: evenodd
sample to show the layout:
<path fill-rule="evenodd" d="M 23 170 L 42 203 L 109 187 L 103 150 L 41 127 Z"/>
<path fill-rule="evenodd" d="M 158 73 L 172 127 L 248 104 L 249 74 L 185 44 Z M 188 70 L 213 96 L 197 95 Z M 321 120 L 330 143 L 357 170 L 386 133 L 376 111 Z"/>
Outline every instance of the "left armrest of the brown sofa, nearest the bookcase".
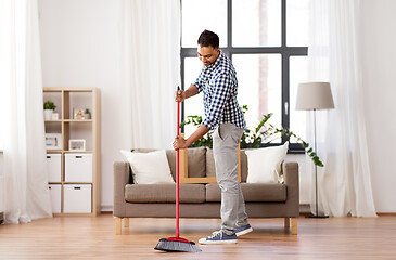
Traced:
<path fill-rule="evenodd" d="M 130 170 L 127 161 L 115 161 L 114 171 L 114 217 L 125 217 L 125 185 L 129 183 Z"/>

